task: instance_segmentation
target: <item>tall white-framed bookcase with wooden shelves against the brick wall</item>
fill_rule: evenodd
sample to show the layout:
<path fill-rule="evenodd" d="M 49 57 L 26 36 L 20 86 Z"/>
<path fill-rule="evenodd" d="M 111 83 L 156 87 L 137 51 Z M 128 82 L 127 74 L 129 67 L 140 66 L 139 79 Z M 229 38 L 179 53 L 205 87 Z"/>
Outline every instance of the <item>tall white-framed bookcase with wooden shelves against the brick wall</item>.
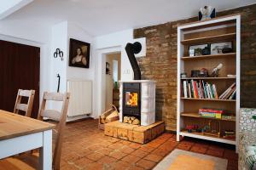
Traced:
<path fill-rule="evenodd" d="M 187 136 L 225 144 L 236 144 L 237 149 L 240 110 L 240 28 L 241 16 L 239 14 L 197 21 L 177 27 L 177 141 L 181 139 L 180 136 Z M 233 53 L 189 57 L 189 45 L 230 41 L 233 42 Z M 219 71 L 219 77 L 190 77 L 191 70 L 207 68 L 211 73 L 212 68 L 218 63 L 224 65 Z M 183 72 L 186 72 L 188 77 L 181 78 Z M 227 77 L 228 74 L 236 74 L 236 77 Z M 236 99 L 186 99 L 181 91 L 182 82 L 191 79 L 214 82 L 217 88 L 219 87 L 218 95 L 222 94 L 224 89 L 229 88 L 231 83 L 236 82 Z M 224 128 L 221 130 L 230 128 L 236 131 L 236 139 L 212 137 L 202 133 L 188 133 L 185 130 L 186 125 L 207 122 L 207 118 L 196 116 L 201 107 L 224 109 L 236 114 L 236 121 L 218 120 L 221 127 Z"/>

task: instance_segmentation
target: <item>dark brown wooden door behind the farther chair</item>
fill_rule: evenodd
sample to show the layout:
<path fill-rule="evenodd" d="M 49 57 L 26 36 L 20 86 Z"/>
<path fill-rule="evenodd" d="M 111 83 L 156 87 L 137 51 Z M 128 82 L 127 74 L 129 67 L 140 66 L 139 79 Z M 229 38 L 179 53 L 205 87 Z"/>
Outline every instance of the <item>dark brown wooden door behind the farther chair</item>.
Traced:
<path fill-rule="evenodd" d="M 36 90 L 32 116 L 39 107 L 40 48 L 0 40 L 0 110 L 14 111 L 18 89 Z"/>

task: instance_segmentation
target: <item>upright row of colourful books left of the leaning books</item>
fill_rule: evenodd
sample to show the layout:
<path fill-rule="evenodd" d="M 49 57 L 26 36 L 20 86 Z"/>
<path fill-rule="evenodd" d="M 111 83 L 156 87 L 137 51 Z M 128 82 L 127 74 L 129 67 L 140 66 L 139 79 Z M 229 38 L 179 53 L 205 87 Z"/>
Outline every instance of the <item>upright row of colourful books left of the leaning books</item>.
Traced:
<path fill-rule="evenodd" d="M 183 97 L 192 99 L 218 99 L 215 84 L 200 81 L 183 81 Z"/>

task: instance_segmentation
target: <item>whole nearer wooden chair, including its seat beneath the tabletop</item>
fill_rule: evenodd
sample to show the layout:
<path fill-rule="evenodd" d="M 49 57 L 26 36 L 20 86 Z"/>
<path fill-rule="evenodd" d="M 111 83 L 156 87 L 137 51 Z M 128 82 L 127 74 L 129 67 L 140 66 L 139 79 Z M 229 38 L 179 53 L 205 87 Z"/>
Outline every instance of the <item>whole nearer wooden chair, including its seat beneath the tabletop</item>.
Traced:
<path fill-rule="evenodd" d="M 38 119 L 43 120 L 44 117 L 50 120 L 57 121 L 55 129 L 53 130 L 53 169 L 60 169 L 61 161 L 61 147 L 63 139 L 63 130 L 66 125 L 67 120 L 67 109 L 69 103 L 70 94 L 60 94 L 60 93 L 48 93 L 44 92 L 43 100 L 38 112 Z M 46 110 L 45 105 L 46 101 L 62 101 L 61 112 L 55 110 Z M 5 169 L 21 170 L 21 169 L 37 169 L 38 165 L 38 156 L 34 155 L 21 155 L 10 157 L 8 159 L 0 160 L 0 170 L 1 167 Z M 36 158 L 36 159 L 35 159 Z"/>

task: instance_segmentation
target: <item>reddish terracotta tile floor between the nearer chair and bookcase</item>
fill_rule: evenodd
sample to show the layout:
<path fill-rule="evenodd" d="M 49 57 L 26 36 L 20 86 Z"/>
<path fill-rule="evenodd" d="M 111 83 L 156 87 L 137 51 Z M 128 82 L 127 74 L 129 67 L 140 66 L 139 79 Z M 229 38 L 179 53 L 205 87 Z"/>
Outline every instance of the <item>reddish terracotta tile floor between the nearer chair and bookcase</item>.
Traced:
<path fill-rule="evenodd" d="M 105 136 L 97 128 L 97 120 L 67 123 L 61 155 L 61 170 L 66 169 L 152 169 L 175 148 L 228 159 L 228 169 L 237 169 L 235 147 L 206 140 L 185 138 L 176 142 L 176 135 L 163 133 L 148 144 Z"/>

